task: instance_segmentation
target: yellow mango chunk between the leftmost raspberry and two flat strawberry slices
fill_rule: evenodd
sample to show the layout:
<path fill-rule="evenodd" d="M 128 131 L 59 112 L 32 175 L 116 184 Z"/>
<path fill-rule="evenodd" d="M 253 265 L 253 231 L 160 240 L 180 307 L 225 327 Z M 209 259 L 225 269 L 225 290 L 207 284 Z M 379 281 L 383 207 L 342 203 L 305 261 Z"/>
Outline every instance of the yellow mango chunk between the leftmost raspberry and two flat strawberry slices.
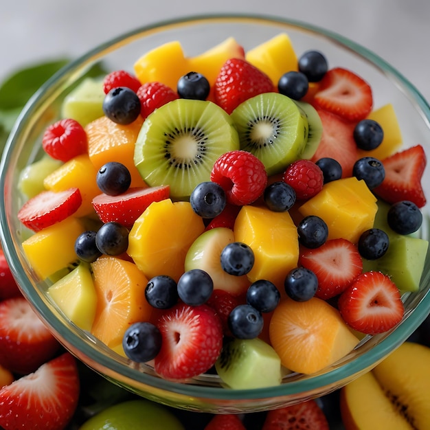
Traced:
<path fill-rule="evenodd" d="M 100 194 L 95 177 L 97 170 L 91 163 L 87 154 L 78 155 L 58 169 L 54 170 L 43 180 L 47 190 L 63 191 L 72 187 L 79 188 L 82 204 L 75 212 L 76 217 L 87 216 L 94 213 L 93 198 Z M 93 178 L 91 180 L 90 178 Z"/>

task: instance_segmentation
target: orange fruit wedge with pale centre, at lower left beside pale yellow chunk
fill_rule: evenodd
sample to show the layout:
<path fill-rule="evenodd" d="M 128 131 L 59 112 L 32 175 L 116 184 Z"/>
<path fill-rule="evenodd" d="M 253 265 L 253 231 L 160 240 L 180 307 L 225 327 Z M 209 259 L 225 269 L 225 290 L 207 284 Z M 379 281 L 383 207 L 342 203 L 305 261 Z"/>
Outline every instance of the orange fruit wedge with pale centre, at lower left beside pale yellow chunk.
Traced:
<path fill-rule="evenodd" d="M 124 332 L 137 321 L 148 321 L 152 306 L 146 302 L 148 279 L 129 261 L 102 256 L 91 263 L 97 308 L 91 333 L 109 348 L 118 348 Z"/>

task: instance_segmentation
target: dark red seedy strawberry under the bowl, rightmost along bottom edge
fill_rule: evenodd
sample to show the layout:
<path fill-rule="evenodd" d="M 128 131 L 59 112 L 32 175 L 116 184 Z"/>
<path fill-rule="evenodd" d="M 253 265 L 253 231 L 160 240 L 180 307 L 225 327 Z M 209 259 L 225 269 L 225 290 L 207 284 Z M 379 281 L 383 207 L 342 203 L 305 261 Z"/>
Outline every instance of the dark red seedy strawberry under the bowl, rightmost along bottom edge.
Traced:
<path fill-rule="evenodd" d="M 262 430 L 329 430 L 328 420 L 315 400 L 269 411 Z"/>

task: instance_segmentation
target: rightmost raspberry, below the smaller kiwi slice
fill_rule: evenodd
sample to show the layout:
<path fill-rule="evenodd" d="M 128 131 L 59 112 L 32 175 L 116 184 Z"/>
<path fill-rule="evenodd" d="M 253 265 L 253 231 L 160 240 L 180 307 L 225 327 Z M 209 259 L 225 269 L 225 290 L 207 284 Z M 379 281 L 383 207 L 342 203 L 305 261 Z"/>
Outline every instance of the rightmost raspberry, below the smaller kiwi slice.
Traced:
<path fill-rule="evenodd" d="M 297 160 L 286 168 L 283 180 L 294 189 L 297 199 L 304 200 L 321 191 L 324 176 L 313 161 Z"/>

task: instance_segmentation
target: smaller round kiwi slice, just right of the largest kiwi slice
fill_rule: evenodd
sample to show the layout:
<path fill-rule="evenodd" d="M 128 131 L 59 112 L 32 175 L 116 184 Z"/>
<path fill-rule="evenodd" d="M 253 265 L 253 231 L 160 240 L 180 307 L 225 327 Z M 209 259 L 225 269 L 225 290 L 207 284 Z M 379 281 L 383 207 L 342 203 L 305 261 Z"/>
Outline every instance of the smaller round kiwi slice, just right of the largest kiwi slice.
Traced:
<path fill-rule="evenodd" d="M 256 95 L 234 109 L 231 117 L 240 148 L 256 155 L 269 176 L 297 160 L 308 139 L 306 114 L 286 95 Z"/>

